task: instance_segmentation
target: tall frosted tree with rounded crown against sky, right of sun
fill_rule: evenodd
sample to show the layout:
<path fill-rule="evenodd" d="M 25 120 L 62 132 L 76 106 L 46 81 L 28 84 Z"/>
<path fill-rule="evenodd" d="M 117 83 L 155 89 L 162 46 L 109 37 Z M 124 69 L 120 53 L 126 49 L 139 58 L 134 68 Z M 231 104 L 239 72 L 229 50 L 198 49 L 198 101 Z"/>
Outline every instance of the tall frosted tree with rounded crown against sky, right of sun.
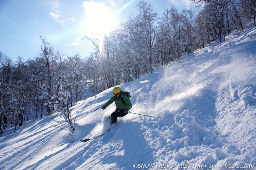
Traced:
<path fill-rule="evenodd" d="M 137 3 L 137 15 L 127 22 L 133 50 L 142 59 L 146 73 L 152 72 L 152 56 L 157 36 L 157 14 L 148 2 Z"/>

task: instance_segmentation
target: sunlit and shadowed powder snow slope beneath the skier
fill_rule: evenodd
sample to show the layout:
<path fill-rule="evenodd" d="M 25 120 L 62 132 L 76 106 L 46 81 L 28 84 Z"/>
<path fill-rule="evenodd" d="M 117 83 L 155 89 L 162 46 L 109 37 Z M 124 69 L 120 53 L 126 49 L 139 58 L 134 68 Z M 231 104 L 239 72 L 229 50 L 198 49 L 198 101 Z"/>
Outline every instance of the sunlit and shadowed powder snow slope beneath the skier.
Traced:
<path fill-rule="evenodd" d="M 132 95 L 130 111 L 153 117 L 128 113 L 99 140 L 79 141 L 108 128 L 105 119 L 115 110 L 114 104 L 87 112 L 107 102 L 112 88 L 73 107 L 74 116 L 78 114 L 74 142 L 67 131 L 52 127 L 48 117 L 28 121 L 15 133 L 7 130 L 0 138 L 0 169 L 211 169 L 213 165 L 241 169 L 237 165 L 254 165 L 256 28 L 248 27 L 246 32 L 252 38 L 236 31 L 230 41 L 227 37 L 189 54 L 182 60 L 187 72 L 176 61 L 121 84 Z"/>

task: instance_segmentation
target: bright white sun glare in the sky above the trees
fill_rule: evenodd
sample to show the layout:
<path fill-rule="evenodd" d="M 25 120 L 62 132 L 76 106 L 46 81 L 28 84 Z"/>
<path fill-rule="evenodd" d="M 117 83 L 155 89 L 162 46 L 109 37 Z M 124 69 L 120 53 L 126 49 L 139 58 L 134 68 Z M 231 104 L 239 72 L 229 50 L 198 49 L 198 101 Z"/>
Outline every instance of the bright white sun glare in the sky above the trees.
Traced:
<path fill-rule="evenodd" d="M 85 20 L 80 25 L 85 29 L 87 35 L 107 34 L 117 26 L 115 14 L 108 7 L 99 2 L 84 1 Z"/>

